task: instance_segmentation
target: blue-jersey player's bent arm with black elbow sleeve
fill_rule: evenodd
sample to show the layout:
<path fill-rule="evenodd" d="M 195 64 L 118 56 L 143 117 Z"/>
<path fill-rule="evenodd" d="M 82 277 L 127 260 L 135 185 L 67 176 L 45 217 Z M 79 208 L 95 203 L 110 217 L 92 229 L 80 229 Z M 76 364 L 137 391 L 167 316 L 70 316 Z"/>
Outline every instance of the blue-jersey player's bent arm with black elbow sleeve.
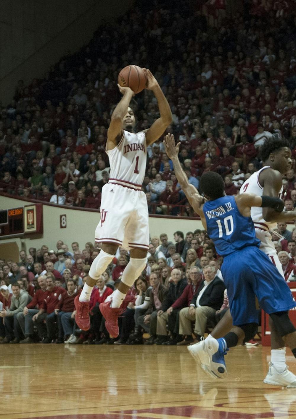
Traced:
<path fill-rule="evenodd" d="M 245 217 L 250 217 L 251 207 L 272 208 L 278 214 L 281 213 L 284 208 L 282 199 L 269 197 L 267 195 L 260 197 L 259 195 L 244 193 L 236 195 L 235 202 L 240 213 Z"/>

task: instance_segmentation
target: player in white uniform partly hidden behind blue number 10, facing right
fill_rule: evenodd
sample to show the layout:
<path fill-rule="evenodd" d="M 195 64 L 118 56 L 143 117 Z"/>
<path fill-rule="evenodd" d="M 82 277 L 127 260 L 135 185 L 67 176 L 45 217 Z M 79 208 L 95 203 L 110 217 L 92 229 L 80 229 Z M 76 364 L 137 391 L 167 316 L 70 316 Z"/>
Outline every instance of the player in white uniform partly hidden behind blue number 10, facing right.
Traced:
<path fill-rule="evenodd" d="M 289 143 L 286 140 L 273 137 L 261 147 L 260 155 L 264 165 L 263 168 L 253 173 L 245 181 L 240 188 L 240 193 L 247 192 L 260 196 L 280 197 L 283 190 L 282 175 L 291 166 Z M 271 240 L 270 230 L 276 227 L 278 221 L 294 220 L 296 211 L 278 213 L 272 208 L 254 207 L 251 209 L 251 217 L 254 222 L 256 237 L 261 241 L 260 249 L 267 254 L 284 278 L 281 262 Z M 265 384 L 296 388 L 296 376 L 288 370 L 286 365 L 285 342 L 276 331 L 271 318 L 269 319 L 269 326 L 271 331 L 271 358 L 268 373 L 263 381 Z M 231 328 L 232 318 L 228 310 L 211 332 L 211 336 L 217 339 L 230 331 Z"/>

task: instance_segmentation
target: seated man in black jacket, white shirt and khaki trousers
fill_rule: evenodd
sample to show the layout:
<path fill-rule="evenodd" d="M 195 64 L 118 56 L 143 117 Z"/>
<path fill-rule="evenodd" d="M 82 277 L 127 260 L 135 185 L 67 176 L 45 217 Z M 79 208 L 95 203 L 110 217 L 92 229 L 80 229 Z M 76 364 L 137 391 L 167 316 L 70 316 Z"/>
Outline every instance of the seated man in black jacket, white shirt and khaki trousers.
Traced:
<path fill-rule="evenodd" d="M 214 266 L 205 266 L 203 269 L 204 281 L 199 285 L 198 290 L 191 300 L 189 307 L 180 311 L 179 334 L 185 335 L 185 342 L 191 343 L 191 322 L 195 321 L 195 341 L 200 341 L 204 336 L 207 321 L 215 321 L 216 311 L 223 303 L 224 282 L 215 275 Z"/>

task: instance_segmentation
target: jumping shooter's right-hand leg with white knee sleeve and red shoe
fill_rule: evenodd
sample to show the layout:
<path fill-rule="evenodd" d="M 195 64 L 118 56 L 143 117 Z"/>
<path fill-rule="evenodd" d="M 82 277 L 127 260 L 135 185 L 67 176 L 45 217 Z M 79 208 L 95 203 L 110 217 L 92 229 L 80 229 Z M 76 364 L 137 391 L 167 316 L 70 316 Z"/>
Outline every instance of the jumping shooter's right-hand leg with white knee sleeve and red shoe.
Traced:
<path fill-rule="evenodd" d="M 145 269 L 147 264 L 146 255 L 147 250 L 143 248 L 130 250 L 130 261 L 123 271 L 117 290 L 112 293 L 109 301 L 100 304 L 101 313 L 106 320 L 105 326 L 112 337 L 117 337 L 119 334 L 118 316 L 121 313 L 120 305 L 130 287 Z"/>

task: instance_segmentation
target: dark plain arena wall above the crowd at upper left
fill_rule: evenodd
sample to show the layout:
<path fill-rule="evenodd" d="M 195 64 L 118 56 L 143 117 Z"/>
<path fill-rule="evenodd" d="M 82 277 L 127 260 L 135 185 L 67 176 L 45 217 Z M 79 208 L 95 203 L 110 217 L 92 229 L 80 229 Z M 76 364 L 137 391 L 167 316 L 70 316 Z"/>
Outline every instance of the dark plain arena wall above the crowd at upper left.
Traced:
<path fill-rule="evenodd" d="M 13 98 L 19 79 L 42 78 L 50 66 L 78 51 L 102 19 L 111 20 L 135 0 L 1 0 L 0 101 Z"/>

